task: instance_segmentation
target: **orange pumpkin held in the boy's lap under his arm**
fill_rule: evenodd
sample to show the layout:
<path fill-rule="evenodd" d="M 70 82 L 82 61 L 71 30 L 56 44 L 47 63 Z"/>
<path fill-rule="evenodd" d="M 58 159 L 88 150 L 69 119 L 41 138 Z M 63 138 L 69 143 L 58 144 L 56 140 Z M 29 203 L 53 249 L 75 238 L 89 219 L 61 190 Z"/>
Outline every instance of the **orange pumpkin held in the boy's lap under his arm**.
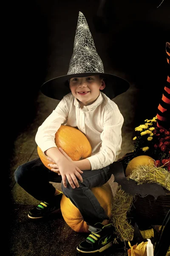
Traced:
<path fill-rule="evenodd" d="M 77 128 L 68 125 L 61 125 L 55 134 L 55 143 L 57 148 L 62 148 L 74 161 L 82 160 L 91 156 L 91 145 L 85 134 Z M 37 147 L 37 152 L 42 163 L 48 169 L 51 169 L 51 167 L 48 166 L 48 163 L 51 162 L 39 147 Z"/>

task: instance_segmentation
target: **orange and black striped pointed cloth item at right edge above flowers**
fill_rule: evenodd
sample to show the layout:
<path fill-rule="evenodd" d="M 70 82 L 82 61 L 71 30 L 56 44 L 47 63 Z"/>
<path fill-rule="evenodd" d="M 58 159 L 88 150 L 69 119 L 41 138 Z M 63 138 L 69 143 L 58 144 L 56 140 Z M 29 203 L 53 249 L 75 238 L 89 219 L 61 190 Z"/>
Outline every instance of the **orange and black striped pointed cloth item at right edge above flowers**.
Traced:
<path fill-rule="evenodd" d="M 166 43 L 167 63 L 170 64 L 170 43 Z M 170 129 L 170 68 L 168 65 L 167 82 L 164 87 L 161 102 L 158 106 L 157 126 L 161 129 Z"/>

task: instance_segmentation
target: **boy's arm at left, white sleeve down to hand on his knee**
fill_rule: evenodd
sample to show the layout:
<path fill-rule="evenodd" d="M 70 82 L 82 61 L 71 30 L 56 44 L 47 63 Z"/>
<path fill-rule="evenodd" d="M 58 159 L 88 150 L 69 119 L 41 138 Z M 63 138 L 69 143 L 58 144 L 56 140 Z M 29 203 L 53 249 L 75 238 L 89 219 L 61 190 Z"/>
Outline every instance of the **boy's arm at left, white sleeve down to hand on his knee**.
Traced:
<path fill-rule="evenodd" d="M 59 172 L 62 176 L 63 185 L 67 187 L 68 180 L 71 187 L 75 188 L 75 186 L 79 187 L 77 178 L 82 181 L 82 176 L 80 175 L 82 171 L 73 162 L 63 156 L 55 144 L 56 131 L 59 129 L 61 124 L 68 119 L 68 109 L 70 106 L 69 101 L 65 101 L 65 97 L 59 102 L 57 108 L 51 113 L 51 115 L 48 116 L 38 128 L 35 141 L 41 148 L 42 152 L 57 163 Z"/>

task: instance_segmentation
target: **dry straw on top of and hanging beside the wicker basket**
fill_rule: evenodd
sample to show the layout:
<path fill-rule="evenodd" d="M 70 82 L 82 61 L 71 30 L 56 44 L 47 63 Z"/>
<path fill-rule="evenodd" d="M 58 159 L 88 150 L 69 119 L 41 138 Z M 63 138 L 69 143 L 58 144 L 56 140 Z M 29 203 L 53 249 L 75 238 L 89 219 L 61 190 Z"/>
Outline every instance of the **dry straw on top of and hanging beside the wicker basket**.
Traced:
<path fill-rule="evenodd" d="M 162 167 L 137 166 L 127 179 L 129 178 L 138 184 L 157 183 L 170 192 L 170 172 Z M 113 198 L 111 222 L 120 241 L 133 239 L 134 228 L 127 219 L 127 213 L 130 212 L 135 200 L 136 195 L 133 197 L 133 195 L 125 193 L 120 185 L 118 186 Z"/>

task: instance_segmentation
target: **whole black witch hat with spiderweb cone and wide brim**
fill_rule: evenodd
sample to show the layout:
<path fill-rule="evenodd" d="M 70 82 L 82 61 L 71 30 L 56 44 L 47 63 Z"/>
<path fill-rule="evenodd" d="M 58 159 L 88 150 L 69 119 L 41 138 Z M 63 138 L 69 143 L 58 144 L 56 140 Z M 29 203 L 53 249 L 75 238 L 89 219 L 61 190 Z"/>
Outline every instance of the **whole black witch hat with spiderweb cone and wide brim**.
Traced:
<path fill-rule="evenodd" d="M 102 92 L 110 99 L 124 93 L 129 88 L 129 83 L 125 79 L 104 72 L 103 63 L 96 52 L 88 23 L 82 12 L 79 12 L 74 51 L 68 73 L 65 76 L 46 81 L 42 84 L 41 91 L 45 96 L 61 100 L 63 96 L 71 92 L 68 79 L 94 75 L 101 75 L 104 78 L 106 87 Z"/>

